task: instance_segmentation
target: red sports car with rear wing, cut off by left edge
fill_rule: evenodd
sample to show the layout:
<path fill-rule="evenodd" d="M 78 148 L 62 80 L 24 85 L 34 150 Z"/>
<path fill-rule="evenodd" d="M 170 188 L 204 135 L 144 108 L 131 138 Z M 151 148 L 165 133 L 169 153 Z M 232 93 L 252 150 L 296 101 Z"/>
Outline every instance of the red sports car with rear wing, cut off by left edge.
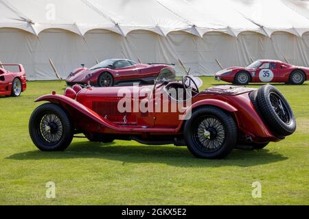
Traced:
<path fill-rule="evenodd" d="M 21 64 L 0 64 L 0 96 L 19 96 L 26 88 L 25 70 Z"/>

